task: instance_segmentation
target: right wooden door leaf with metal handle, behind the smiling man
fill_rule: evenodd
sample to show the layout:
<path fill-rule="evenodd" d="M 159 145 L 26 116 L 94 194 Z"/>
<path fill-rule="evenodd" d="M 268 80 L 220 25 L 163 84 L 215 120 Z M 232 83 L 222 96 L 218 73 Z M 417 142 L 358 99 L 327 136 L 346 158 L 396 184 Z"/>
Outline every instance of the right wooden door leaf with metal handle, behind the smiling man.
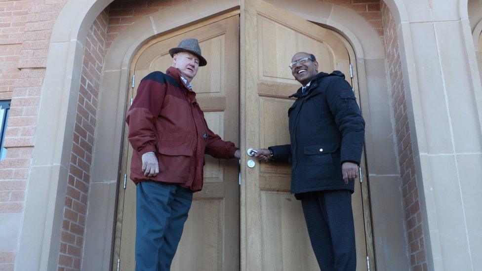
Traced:
<path fill-rule="evenodd" d="M 288 64 L 298 51 L 315 54 L 320 71 L 340 70 L 352 79 L 353 50 L 340 35 L 264 1 L 241 1 L 244 154 L 247 148 L 289 143 L 287 111 L 294 100 L 288 96 L 300 84 Z M 290 166 L 256 161 L 250 168 L 250 159 L 241 159 L 241 270 L 318 270 L 301 203 L 289 194 Z M 357 270 L 362 271 L 367 270 L 367 256 L 373 258 L 366 182 L 356 180 L 352 202 Z"/>

